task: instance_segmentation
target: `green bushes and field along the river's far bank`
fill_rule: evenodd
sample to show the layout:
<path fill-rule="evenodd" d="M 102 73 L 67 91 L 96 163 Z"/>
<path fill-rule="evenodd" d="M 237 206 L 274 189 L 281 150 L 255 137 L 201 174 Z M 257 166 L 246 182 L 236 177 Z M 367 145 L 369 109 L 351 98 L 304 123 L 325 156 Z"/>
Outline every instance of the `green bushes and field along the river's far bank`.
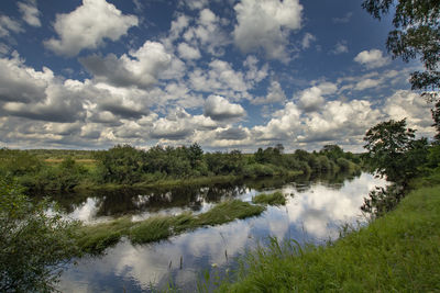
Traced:
<path fill-rule="evenodd" d="M 85 189 L 172 187 L 228 182 L 240 178 L 299 173 L 358 172 L 359 155 L 328 145 L 320 151 L 284 147 L 260 148 L 255 154 L 204 153 L 198 144 L 138 149 L 117 145 L 108 150 L 0 149 L 0 174 L 15 178 L 28 194 Z"/>

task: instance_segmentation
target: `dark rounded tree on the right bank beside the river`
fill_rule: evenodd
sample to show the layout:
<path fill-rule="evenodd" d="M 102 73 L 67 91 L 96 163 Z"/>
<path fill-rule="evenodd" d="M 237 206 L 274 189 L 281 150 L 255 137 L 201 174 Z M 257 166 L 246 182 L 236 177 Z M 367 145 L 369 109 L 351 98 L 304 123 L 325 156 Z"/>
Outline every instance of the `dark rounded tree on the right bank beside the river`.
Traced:
<path fill-rule="evenodd" d="M 428 155 L 426 138 L 415 139 L 415 131 L 406 127 L 406 120 L 387 121 L 365 134 L 366 159 L 374 171 L 389 181 L 405 185 L 425 164 Z"/>

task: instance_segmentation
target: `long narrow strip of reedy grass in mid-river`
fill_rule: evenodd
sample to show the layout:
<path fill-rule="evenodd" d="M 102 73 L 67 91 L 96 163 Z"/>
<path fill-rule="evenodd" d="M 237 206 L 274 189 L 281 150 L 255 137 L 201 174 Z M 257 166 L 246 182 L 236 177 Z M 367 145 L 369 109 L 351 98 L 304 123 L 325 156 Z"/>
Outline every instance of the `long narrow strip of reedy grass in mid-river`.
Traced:
<path fill-rule="evenodd" d="M 264 206 L 253 205 L 240 200 L 217 204 L 206 213 L 193 215 L 153 216 L 142 222 L 131 222 L 122 217 L 109 223 L 82 226 L 78 230 L 78 245 L 87 253 L 100 253 L 127 236 L 133 244 L 145 244 L 168 238 L 186 230 L 204 226 L 220 225 L 237 218 L 257 216 Z"/>

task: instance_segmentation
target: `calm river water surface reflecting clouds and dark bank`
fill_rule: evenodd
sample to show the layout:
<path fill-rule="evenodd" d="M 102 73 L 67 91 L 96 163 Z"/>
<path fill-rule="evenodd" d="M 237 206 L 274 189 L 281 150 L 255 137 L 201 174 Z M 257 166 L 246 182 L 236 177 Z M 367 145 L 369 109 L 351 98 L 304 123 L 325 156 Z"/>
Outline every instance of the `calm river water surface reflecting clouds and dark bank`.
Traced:
<path fill-rule="evenodd" d="M 131 215 L 133 221 L 155 214 L 201 213 L 226 199 L 251 201 L 261 192 L 279 190 L 286 206 L 268 206 L 258 217 L 199 228 L 166 240 L 131 245 L 128 240 L 101 257 L 76 260 L 63 273 L 62 292 L 145 292 L 170 284 L 184 292 L 197 289 L 205 271 L 224 277 L 237 268 L 237 257 L 267 241 L 294 238 L 320 244 L 339 236 L 344 223 L 365 223 L 360 206 L 375 185 L 385 181 L 362 173 L 350 178 L 258 180 L 174 190 L 72 194 L 61 204 L 66 216 L 87 223 Z M 75 200 L 74 200 L 75 199 Z"/>

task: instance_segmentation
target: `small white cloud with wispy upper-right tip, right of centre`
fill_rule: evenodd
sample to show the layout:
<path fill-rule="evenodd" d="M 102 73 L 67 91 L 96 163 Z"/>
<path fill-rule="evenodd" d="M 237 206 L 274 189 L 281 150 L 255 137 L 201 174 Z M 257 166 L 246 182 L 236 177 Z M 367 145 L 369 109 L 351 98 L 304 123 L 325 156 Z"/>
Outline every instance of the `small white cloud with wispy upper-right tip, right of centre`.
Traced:
<path fill-rule="evenodd" d="M 298 105 L 306 112 L 317 111 L 324 105 L 323 95 L 332 94 L 338 90 L 332 82 L 322 82 L 302 90 L 298 97 Z"/>

